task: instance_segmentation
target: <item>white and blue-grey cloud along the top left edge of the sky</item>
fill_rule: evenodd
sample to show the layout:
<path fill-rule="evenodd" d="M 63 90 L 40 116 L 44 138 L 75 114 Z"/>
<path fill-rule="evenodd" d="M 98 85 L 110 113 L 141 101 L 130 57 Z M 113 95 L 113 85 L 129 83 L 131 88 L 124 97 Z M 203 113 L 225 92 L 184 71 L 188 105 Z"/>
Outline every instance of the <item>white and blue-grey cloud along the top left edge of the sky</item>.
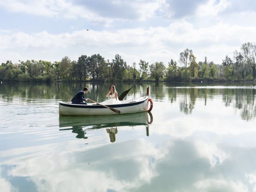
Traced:
<path fill-rule="evenodd" d="M 114 20 L 144 21 L 155 16 L 164 1 L 72 1 L 72 0 L 2 0 L 0 6 L 10 12 L 54 19 L 86 19 L 110 25 Z"/>

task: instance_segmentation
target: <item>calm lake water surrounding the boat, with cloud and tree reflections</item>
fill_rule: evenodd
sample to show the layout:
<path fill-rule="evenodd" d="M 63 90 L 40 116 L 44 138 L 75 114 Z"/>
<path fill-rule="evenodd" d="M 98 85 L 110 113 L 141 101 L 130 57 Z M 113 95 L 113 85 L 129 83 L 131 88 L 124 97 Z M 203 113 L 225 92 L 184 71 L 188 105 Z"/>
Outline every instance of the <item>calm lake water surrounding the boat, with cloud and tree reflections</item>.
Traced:
<path fill-rule="evenodd" d="M 256 86 L 115 84 L 151 114 L 60 117 L 84 86 L 0 84 L 1 192 L 255 192 Z"/>

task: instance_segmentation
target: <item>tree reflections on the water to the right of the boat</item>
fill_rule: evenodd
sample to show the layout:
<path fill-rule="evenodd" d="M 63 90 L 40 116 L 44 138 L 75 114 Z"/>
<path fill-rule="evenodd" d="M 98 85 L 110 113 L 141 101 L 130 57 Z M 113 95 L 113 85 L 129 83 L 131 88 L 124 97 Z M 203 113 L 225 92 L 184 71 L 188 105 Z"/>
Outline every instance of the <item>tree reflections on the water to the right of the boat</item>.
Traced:
<path fill-rule="evenodd" d="M 243 120 L 251 120 L 256 117 L 255 89 L 206 89 L 206 88 L 169 88 L 166 94 L 170 102 L 176 101 L 177 97 L 181 98 L 180 112 L 191 114 L 196 105 L 196 99 L 212 100 L 216 96 L 222 96 L 224 106 L 228 107 L 234 103 L 233 107 L 241 110 Z"/>

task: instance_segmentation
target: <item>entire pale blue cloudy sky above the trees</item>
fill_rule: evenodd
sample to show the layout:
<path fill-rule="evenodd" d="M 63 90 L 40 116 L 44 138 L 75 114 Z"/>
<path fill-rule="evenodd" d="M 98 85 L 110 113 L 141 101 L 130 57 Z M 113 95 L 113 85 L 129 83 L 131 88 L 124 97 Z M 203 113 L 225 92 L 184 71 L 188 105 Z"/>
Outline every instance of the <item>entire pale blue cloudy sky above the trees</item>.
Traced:
<path fill-rule="evenodd" d="M 255 42 L 255 0 L 0 0 L 0 63 L 119 54 L 128 65 L 221 64 Z"/>

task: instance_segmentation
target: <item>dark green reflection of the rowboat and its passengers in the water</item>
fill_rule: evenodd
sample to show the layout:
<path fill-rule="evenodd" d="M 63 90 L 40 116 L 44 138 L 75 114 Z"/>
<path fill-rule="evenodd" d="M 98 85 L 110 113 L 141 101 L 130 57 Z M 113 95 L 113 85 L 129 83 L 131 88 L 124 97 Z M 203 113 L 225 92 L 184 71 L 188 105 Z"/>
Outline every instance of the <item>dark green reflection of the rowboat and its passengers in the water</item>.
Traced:
<path fill-rule="evenodd" d="M 148 117 L 149 116 L 149 117 Z M 116 141 L 118 128 L 122 126 L 146 126 L 146 135 L 149 136 L 148 127 L 153 122 L 151 112 L 141 112 L 134 114 L 109 115 L 109 116 L 60 116 L 59 130 L 72 130 L 76 133 L 76 138 L 86 137 L 86 131 L 106 128 L 110 142 Z"/>

